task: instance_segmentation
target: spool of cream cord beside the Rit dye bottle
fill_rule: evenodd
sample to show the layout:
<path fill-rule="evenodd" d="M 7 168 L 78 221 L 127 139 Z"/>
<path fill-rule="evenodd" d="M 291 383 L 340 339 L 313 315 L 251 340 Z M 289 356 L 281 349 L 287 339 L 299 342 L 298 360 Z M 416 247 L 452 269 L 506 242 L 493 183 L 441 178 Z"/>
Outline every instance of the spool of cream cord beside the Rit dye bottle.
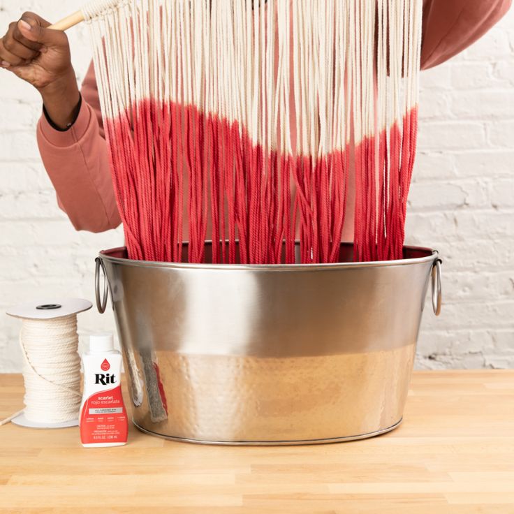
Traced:
<path fill-rule="evenodd" d="M 77 314 L 91 305 L 87 300 L 71 298 L 33 302 L 7 311 L 23 323 L 20 346 L 25 408 L 0 425 L 8 421 L 33 428 L 78 425 L 82 395 Z"/>

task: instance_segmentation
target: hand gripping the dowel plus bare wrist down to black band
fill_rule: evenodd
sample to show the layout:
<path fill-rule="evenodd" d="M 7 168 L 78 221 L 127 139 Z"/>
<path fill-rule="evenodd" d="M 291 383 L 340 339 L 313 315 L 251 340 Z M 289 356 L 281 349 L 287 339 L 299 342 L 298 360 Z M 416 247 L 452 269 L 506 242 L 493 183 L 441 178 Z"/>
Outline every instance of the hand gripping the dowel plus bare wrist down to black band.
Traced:
<path fill-rule="evenodd" d="M 80 93 L 68 37 L 49 26 L 34 13 L 11 23 L 0 40 L 0 66 L 36 87 L 52 122 L 65 129 L 77 115 Z"/>

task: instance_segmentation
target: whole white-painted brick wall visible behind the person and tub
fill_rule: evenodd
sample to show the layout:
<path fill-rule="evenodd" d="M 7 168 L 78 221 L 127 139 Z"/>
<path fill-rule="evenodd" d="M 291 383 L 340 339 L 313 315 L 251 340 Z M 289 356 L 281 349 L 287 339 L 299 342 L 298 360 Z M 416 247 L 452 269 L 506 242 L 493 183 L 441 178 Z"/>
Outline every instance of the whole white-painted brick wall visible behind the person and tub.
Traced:
<path fill-rule="evenodd" d="M 0 0 L 0 31 L 22 10 L 57 20 L 80 0 Z M 70 31 L 79 79 L 84 27 Z M 514 367 L 514 10 L 452 61 L 423 73 L 418 160 L 407 242 L 443 257 L 445 304 L 427 304 L 418 367 Z M 38 95 L 0 70 L 0 312 L 33 298 L 93 298 L 98 249 L 121 230 L 77 233 L 54 199 L 34 126 Z M 0 314 L 0 372 L 19 371 L 20 323 Z M 80 316 L 83 337 L 115 330 L 111 314 Z"/>

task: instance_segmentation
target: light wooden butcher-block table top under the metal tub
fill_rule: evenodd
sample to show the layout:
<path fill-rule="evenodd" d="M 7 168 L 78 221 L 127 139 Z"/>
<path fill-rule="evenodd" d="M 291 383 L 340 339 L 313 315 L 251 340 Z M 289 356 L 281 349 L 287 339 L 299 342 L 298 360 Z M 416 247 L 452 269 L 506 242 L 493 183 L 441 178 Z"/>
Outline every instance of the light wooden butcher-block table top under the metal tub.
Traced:
<path fill-rule="evenodd" d="M 0 419 L 22 406 L 0 375 Z M 321 446 L 82 448 L 78 428 L 0 427 L 1 513 L 514 513 L 514 370 L 415 372 L 404 422 Z"/>

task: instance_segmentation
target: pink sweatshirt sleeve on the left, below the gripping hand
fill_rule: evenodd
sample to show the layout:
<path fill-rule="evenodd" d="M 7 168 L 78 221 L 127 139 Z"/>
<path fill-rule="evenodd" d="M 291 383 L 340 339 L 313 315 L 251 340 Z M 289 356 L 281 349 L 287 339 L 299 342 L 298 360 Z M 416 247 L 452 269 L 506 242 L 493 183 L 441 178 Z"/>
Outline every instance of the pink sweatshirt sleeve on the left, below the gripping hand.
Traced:
<path fill-rule="evenodd" d="M 91 65 L 82 85 L 82 106 L 68 131 L 55 130 L 43 115 L 38 123 L 41 158 L 57 191 L 59 207 L 77 230 L 103 232 L 119 219 L 110 177 L 100 102 Z"/>

